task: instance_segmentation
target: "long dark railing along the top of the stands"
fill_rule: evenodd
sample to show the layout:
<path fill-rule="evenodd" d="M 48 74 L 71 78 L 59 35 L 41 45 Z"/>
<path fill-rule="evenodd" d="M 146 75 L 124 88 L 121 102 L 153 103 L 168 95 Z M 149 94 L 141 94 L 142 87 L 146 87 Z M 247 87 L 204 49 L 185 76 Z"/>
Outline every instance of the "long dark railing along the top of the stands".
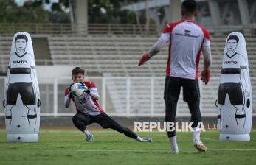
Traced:
<path fill-rule="evenodd" d="M 227 35 L 230 32 L 243 32 L 246 36 L 256 36 L 256 25 L 204 25 L 212 35 Z M 146 30 L 145 24 L 0 24 L 0 34 L 13 35 L 15 32 L 46 35 L 158 35 L 156 25 L 151 24 Z"/>

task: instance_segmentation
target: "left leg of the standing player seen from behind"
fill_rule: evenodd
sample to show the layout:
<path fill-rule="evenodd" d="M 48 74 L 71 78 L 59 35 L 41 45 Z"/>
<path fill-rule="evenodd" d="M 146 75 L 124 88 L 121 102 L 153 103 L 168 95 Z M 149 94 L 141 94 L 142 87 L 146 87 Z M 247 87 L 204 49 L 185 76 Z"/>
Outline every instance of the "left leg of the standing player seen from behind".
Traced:
<path fill-rule="evenodd" d="M 176 122 L 176 110 L 179 94 L 181 90 L 181 79 L 177 77 L 166 77 L 165 79 L 165 122 Z M 179 153 L 176 140 L 176 131 L 167 131 L 170 141 L 170 152 Z"/>

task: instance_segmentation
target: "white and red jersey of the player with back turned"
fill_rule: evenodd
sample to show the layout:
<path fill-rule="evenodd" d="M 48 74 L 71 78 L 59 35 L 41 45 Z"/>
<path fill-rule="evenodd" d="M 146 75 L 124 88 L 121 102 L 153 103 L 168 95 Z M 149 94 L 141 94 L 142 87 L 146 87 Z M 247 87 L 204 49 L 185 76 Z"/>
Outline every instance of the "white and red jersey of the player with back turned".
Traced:
<path fill-rule="evenodd" d="M 210 46 L 207 29 L 195 21 L 167 24 L 160 40 L 169 42 L 166 75 L 198 79 L 198 64 L 202 46 Z"/>

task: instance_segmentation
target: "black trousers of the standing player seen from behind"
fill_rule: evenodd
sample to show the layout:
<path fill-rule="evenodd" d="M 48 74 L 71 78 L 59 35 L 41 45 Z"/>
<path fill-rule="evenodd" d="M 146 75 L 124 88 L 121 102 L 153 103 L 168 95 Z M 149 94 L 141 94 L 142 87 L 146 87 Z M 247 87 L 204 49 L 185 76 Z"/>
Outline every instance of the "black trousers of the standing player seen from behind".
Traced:
<path fill-rule="evenodd" d="M 176 111 L 179 94 L 183 88 L 183 100 L 187 102 L 191 114 L 192 127 L 201 122 L 200 90 L 198 80 L 179 77 L 166 77 L 165 79 L 165 122 L 176 122 Z M 168 137 L 176 135 L 175 131 L 167 131 Z"/>

